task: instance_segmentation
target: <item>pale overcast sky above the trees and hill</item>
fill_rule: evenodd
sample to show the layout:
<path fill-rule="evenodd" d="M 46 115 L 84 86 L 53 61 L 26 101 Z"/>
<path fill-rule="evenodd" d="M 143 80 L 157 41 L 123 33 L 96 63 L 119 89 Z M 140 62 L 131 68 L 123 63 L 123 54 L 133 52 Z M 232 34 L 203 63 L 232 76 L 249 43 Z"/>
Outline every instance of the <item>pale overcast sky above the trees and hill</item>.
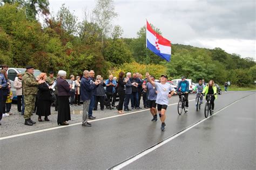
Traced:
<path fill-rule="evenodd" d="M 93 0 L 49 0 L 50 10 L 57 13 L 65 3 L 82 20 L 83 10 L 92 11 Z M 137 37 L 146 19 L 160 29 L 173 44 L 186 44 L 213 49 L 256 60 L 256 21 L 254 0 L 115 0 L 123 37 Z"/>

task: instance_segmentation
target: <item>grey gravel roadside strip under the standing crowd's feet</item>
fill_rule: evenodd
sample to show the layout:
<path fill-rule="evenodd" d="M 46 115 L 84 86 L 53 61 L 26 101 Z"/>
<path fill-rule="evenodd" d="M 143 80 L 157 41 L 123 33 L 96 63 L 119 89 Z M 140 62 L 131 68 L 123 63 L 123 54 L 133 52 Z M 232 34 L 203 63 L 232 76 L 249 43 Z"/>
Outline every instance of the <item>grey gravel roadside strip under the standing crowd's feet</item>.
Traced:
<path fill-rule="evenodd" d="M 178 97 L 174 96 L 173 100 L 170 100 L 170 103 L 177 103 Z M 143 103 L 143 100 L 140 102 Z M 116 105 L 118 102 L 116 103 Z M 142 105 L 140 105 L 142 107 Z M 144 110 L 145 108 L 142 108 L 140 110 Z M 82 114 L 83 114 L 83 106 L 73 106 L 70 107 L 71 110 L 71 120 L 68 122 L 69 124 L 75 124 L 82 122 Z M 134 112 L 138 110 L 132 110 L 130 112 Z M 36 124 L 33 126 L 25 126 L 24 125 L 24 118 L 21 115 L 20 112 L 17 112 L 17 104 L 12 104 L 11 106 L 11 112 L 12 115 L 9 115 L 8 117 L 3 117 L 2 119 L 2 125 L 0 126 L 0 137 L 6 137 L 9 135 L 14 134 L 20 134 L 25 132 L 31 132 L 31 131 L 37 131 L 37 130 L 43 130 L 45 128 L 51 128 L 51 127 L 57 127 L 57 114 L 58 112 L 55 111 L 55 107 L 51 107 L 51 115 L 49 115 L 50 121 L 44 121 L 44 117 L 42 117 L 42 122 L 39 122 L 38 116 L 36 113 L 33 113 L 31 119 L 33 121 L 36 121 Z M 125 112 L 127 113 L 127 112 Z M 119 115 L 117 113 L 117 109 L 114 108 L 113 110 L 104 108 L 104 111 L 100 111 L 98 107 L 98 111 L 93 111 L 93 116 L 95 116 L 97 119 L 100 118 L 106 118 L 111 117 L 113 115 Z"/>

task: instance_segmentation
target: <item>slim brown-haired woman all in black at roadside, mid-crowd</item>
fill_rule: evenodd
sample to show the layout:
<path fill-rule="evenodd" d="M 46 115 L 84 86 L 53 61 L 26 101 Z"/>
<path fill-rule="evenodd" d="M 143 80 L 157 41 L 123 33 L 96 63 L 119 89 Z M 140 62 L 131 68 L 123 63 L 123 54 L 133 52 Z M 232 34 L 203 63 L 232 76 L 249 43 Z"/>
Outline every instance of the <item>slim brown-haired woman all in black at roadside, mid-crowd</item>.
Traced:
<path fill-rule="evenodd" d="M 123 80 L 124 77 L 124 72 L 121 71 L 119 73 L 119 78 L 118 78 L 118 88 L 117 88 L 117 93 L 119 95 L 119 103 L 118 103 L 118 113 L 119 114 L 124 114 L 123 112 L 123 105 L 124 105 L 124 96 L 125 96 L 125 84 L 127 83 L 128 79 Z"/>

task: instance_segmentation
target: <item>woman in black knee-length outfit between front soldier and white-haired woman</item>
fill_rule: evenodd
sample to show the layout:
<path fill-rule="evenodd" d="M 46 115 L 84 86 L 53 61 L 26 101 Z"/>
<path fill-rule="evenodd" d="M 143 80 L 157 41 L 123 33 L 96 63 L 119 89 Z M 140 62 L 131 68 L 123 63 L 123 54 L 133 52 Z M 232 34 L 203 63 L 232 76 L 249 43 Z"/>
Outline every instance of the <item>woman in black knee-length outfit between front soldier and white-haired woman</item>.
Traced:
<path fill-rule="evenodd" d="M 39 78 L 46 80 L 46 73 L 41 73 Z M 38 115 L 38 121 L 42 121 L 41 117 L 44 116 L 45 121 L 50 121 L 48 115 L 51 114 L 51 98 L 50 98 L 50 86 L 46 81 L 38 86 L 38 101 L 36 114 Z"/>

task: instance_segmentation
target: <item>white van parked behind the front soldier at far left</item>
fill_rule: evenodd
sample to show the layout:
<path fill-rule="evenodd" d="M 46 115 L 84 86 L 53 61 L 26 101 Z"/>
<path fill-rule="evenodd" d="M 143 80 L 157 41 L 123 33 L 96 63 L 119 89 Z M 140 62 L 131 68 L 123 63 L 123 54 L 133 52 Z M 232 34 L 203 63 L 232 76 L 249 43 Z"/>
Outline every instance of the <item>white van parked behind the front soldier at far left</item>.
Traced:
<path fill-rule="evenodd" d="M 11 83 L 11 91 L 14 94 L 14 98 L 12 100 L 17 100 L 16 89 L 14 88 L 15 77 L 17 77 L 18 73 L 24 74 L 25 71 L 26 69 L 19 69 L 19 68 L 9 68 L 7 71 L 8 78 L 10 79 L 10 83 Z M 34 76 L 37 77 L 39 76 L 40 73 L 42 73 L 40 70 L 35 70 Z"/>

